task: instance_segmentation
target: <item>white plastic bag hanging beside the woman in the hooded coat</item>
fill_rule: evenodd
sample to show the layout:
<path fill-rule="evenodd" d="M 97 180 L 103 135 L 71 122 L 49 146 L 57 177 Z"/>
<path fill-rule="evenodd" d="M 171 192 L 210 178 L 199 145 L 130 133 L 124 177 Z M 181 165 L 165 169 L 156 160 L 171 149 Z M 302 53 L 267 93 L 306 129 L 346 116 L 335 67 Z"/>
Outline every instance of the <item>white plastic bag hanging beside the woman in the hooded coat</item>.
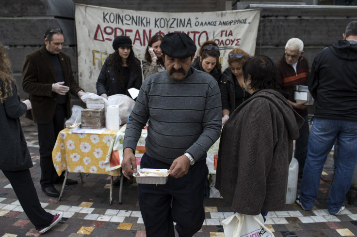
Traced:
<path fill-rule="evenodd" d="M 264 226 L 261 214 L 256 216 L 235 213 L 222 221 L 225 237 L 274 237 Z"/>

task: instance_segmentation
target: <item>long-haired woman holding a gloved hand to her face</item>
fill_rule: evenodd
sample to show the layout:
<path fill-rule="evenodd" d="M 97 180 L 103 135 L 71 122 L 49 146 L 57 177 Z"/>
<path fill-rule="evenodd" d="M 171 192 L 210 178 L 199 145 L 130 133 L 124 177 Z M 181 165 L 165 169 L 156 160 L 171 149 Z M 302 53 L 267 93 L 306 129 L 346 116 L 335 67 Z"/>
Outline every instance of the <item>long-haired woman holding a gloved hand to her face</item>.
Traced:
<path fill-rule="evenodd" d="M 143 60 L 143 73 L 144 79 L 153 73 L 157 73 L 165 70 L 165 65 L 163 64 L 162 51 L 160 44 L 162 41 L 162 35 L 156 34 L 148 42 L 145 57 Z"/>

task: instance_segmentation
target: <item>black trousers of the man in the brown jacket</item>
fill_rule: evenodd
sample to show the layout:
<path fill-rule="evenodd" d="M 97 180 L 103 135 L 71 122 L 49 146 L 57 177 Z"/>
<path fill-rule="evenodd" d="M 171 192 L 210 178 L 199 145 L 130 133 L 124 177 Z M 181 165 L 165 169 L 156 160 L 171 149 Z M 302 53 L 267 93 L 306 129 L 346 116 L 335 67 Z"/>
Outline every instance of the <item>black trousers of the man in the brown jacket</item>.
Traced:
<path fill-rule="evenodd" d="M 57 104 L 56 112 L 49 123 L 37 123 L 41 166 L 40 184 L 42 188 L 53 186 L 53 178 L 56 175 L 56 170 L 53 166 L 52 150 L 56 143 L 58 133 L 64 129 L 65 111 L 66 104 Z"/>

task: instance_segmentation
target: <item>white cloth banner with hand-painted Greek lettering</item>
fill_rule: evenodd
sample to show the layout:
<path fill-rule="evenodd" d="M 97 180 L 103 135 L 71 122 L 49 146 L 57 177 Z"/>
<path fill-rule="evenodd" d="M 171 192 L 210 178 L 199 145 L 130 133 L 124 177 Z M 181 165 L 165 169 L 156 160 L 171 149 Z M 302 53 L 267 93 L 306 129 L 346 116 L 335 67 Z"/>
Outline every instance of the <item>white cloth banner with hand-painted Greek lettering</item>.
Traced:
<path fill-rule="evenodd" d="M 222 70 L 225 70 L 228 53 L 233 48 L 254 55 L 260 9 L 162 13 L 76 4 L 75 20 L 79 84 L 85 91 L 97 93 L 97 78 L 105 59 L 114 52 L 115 37 L 129 36 L 135 56 L 140 60 L 155 34 L 185 32 L 194 40 L 197 51 L 205 41 L 214 40 L 220 48 Z"/>

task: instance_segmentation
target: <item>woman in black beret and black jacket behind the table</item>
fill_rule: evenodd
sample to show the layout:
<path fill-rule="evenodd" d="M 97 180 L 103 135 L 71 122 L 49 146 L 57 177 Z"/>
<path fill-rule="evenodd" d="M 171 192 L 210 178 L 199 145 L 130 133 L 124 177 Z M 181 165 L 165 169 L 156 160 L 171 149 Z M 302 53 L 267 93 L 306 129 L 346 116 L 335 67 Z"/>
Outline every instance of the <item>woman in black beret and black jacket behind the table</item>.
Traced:
<path fill-rule="evenodd" d="M 128 89 L 140 89 L 143 82 L 140 61 L 134 56 L 131 39 L 116 37 L 113 49 L 114 53 L 105 60 L 97 80 L 97 94 L 105 99 L 115 94 L 130 96 Z"/>

